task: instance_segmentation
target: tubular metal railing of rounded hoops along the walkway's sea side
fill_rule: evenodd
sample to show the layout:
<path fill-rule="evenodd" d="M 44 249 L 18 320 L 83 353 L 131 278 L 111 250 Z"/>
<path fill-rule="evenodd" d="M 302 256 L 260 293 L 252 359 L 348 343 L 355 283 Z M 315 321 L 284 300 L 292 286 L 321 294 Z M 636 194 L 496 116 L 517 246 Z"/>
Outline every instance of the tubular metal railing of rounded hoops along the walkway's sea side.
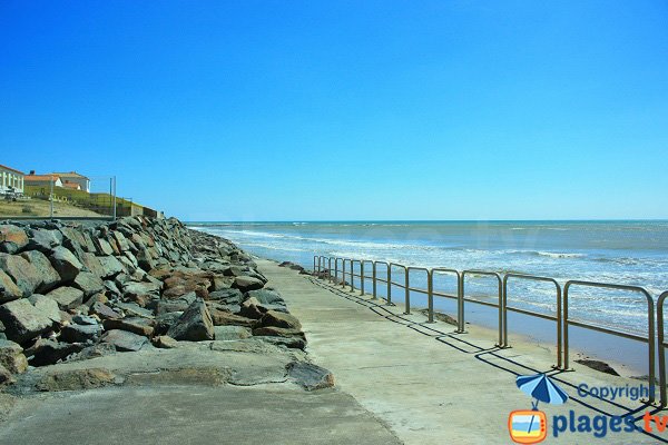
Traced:
<path fill-rule="evenodd" d="M 324 265 L 325 257 L 314 256 L 313 264 L 314 270 L 317 273 L 322 271 L 322 266 Z M 463 270 L 459 271 L 452 268 L 425 268 L 425 267 L 413 267 L 413 266 L 404 266 L 396 263 L 386 263 L 386 261 L 372 261 L 364 259 L 350 259 L 350 258 L 340 258 L 333 257 L 328 258 L 327 265 L 330 266 L 331 274 L 331 265 L 332 259 L 334 260 L 334 276 L 335 280 L 338 280 L 338 261 L 342 264 L 342 279 L 341 284 L 345 288 L 345 277 L 346 277 L 346 261 L 351 265 L 350 278 L 351 278 L 351 291 L 355 290 L 354 279 L 358 277 L 361 280 L 361 295 L 365 294 L 364 281 L 369 279 L 369 277 L 364 273 L 364 265 L 372 265 L 372 284 L 373 284 L 373 298 L 379 298 L 377 296 L 377 283 L 385 283 L 387 286 L 386 289 L 386 304 L 392 305 L 392 286 L 400 287 L 404 289 L 404 306 L 405 306 L 405 315 L 411 314 L 411 291 L 424 294 L 428 299 L 428 323 L 433 323 L 434 320 L 434 296 L 450 298 L 456 300 L 458 306 L 458 317 L 456 317 L 456 333 L 465 333 L 465 306 L 466 303 L 483 305 L 488 307 L 492 307 L 498 309 L 499 322 L 498 322 L 498 343 L 497 346 L 501 348 L 510 347 L 510 343 L 508 340 L 508 312 L 513 312 L 527 316 L 538 317 L 546 320 L 556 322 L 557 325 L 557 365 L 553 366 L 558 369 L 569 369 L 569 326 L 577 326 L 584 329 L 591 329 L 599 333 L 610 334 L 613 336 L 628 338 L 641 343 L 646 343 L 648 345 L 648 366 L 649 366 L 649 403 L 655 402 L 655 393 L 656 393 L 656 346 L 657 338 L 656 333 L 658 329 L 658 352 L 659 352 L 659 382 L 660 382 L 660 394 L 661 394 L 661 406 L 668 405 L 668 394 L 666 389 L 667 384 L 667 366 L 666 366 L 666 347 L 668 344 L 665 342 L 664 336 L 664 303 L 668 298 L 668 291 L 661 294 L 657 301 L 657 325 L 655 326 L 655 303 L 651 298 L 651 295 L 642 287 L 639 286 L 627 286 L 627 285 L 618 285 L 618 284 L 608 284 L 608 283 L 596 283 L 596 281 L 581 281 L 581 280 L 569 280 L 562 287 L 559 283 L 550 277 L 541 277 L 536 275 L 524 275 L 524 274 L 500 274 L 497 271 L 489 270 Z M 360 274 L 355 274 L 354 265 L 360 265 Z M 379 267 L 385 266 L 386 268 L 386 279 L 379 277 Z M 317 269 L 316 269 L 317 267 Z M 393 268 L 403 269 L 403 284 L 399 281 L 393 281 Z M 411 287 L 411 271 L 424 271 L 426 274 L 426 289 L 419 287 Z M 440 293 L 434 290 L 434 276 L 448 274 L 454 275 L 456 278 L 456 296 L 449 295 L 446 293 Z M 322 274 L 318 274 L 322 276 Z M 465 296 L 465 284 L 466 276 L 485 276 L 495 278 L 498 284 L 498 303 L 483 301 L 475 298 L 469 298 Z M 514 307 L 509 305 L 509 281 L 513 280 L 530 280 L 530 281 L 541 281 L 549 283 L 554 285 L 554 295 L 556 295 L 556 315 L 541 314 L 534 310 L 528 310 L 520 307 Z M 572 286 L 584 286 L 584 287 L 595 287 L 595 288 L 603 288 L 603 289 L 617 289 L 617 290 L 626 290 L 632 293 L 640 293 L 645 296 L 647 300 L 647 317 L 648 317 L 648 333 L 647 337 L 644 335 L 632 334 L 623 330 L 616 330 L 609 327 L 598 326 L 595 324 L 584 324 L 582 322 L 578 322 L 576 319 L 569 318 L 569 291 Z M 655 328 L 656 327 L 656 328 Z"/>

